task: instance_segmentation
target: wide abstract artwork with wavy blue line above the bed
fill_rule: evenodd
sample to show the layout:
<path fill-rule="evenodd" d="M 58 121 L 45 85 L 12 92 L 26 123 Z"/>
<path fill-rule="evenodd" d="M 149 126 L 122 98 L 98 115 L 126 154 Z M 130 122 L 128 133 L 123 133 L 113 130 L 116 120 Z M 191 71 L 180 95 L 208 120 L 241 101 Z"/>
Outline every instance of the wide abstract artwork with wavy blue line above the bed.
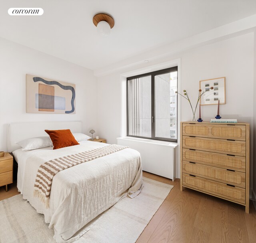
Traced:
<path fill-rule="evenodd" d="M 76 113 L 76 85 L 26 75 L 27 113 Z"/>

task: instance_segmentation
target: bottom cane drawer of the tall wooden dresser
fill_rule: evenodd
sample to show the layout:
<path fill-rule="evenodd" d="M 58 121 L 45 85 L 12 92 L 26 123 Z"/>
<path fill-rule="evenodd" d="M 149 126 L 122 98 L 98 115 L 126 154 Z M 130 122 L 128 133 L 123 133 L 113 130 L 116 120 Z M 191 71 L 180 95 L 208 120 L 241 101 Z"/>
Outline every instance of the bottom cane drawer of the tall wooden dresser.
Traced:
<path fill-rule="evenodd" d="M 183 186 L 245 204 L 245 189 L 183 173 Z"/>

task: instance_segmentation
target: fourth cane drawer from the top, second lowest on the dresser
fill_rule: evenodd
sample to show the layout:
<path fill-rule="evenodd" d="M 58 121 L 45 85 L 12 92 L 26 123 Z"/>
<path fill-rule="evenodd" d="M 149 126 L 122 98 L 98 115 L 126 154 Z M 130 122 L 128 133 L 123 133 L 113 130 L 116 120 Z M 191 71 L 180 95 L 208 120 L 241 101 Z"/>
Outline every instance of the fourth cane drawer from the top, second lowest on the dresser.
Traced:
<path fill-rule="evenodd" d="M 245 188 L 245 173 L 183 161 L 183 172 Z"/>

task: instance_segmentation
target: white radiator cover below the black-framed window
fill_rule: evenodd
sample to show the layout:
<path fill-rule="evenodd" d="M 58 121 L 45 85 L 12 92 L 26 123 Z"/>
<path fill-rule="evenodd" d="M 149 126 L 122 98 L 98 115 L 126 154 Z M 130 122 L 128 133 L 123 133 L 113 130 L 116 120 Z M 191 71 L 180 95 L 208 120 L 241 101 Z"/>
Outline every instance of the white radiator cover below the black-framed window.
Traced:
<path fill-rule="evenodd" d="M 142 170 L 176 179 L 177 144 L 143 138 L 117 138 L 117 144 L 128 146 L 140 152 Z"/>

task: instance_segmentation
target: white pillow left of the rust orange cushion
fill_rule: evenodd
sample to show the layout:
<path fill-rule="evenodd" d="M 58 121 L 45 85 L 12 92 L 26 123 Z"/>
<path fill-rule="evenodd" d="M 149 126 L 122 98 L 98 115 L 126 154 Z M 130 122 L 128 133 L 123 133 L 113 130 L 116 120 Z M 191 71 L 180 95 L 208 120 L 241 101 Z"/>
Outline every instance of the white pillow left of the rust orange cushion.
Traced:
<path fill-rule="evenodd" d="M 28 138 L 20 142 L 16 142 L 16 144 L 22 146 L 23 151 L 29 151 L 37 148 L 46 148 L 46 147 L 53 146 L 52 140 L 50 139 L 49 136 Z"/>

